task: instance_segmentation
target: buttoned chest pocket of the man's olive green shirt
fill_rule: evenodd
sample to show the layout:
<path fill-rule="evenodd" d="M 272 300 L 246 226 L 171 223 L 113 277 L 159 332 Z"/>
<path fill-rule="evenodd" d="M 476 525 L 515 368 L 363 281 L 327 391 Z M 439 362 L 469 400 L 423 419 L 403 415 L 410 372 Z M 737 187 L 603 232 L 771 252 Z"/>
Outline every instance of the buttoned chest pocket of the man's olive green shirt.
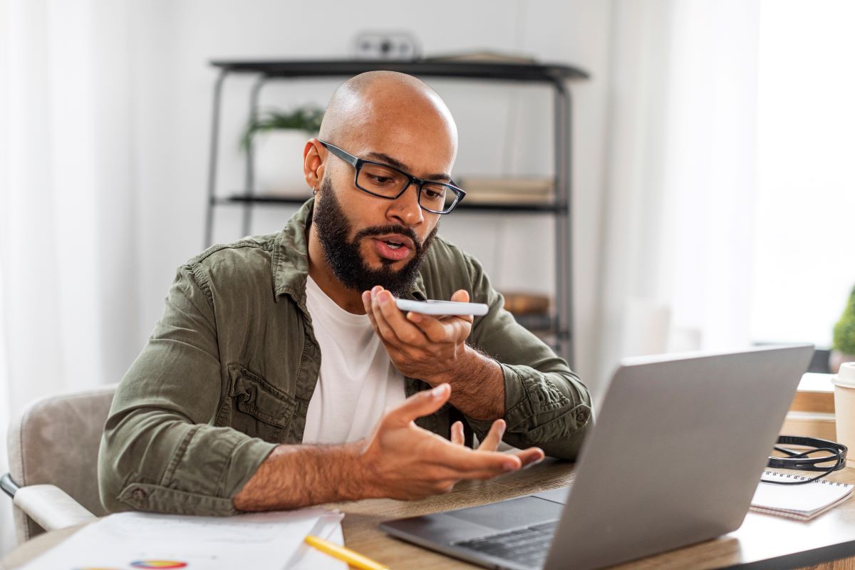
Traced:
<path fill-rule="evenodd" d="M 230 389 L 222 408 L 230 418 L 223 423 L 253 438 L 282 443 L 296 408 L 294 398 L 239 364 L 229 365 L 228 373 Z"/>

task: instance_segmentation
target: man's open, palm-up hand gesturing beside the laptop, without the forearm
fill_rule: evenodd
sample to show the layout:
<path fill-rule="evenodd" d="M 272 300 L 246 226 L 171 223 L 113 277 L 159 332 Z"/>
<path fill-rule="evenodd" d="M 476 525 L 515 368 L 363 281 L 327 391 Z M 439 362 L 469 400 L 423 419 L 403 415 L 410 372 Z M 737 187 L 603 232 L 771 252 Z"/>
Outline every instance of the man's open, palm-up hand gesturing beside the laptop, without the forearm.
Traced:
<path fill-rule="evenodd" d="M 451 441 L 416 426 L 417 417 L 433 414 L 450 395 L 449 385 L 439 385 L 407 398 L 383 416 L 360 455 L 369 497 L 418 499 L 447 493 L 461 479 L 492 479 L 543 459 L 538 448 L 498 453 L 503 420 L 493 423 L 478 450 L 462 445 L 459 422 L 452 427 Z"/>

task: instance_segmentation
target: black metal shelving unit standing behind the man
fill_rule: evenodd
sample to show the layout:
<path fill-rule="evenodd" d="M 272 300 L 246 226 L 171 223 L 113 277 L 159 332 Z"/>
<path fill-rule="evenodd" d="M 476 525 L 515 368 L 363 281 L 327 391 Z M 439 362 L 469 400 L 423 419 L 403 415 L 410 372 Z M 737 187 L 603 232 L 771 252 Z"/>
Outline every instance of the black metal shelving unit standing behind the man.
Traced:
<path fill-rule="evenodd" d="M 214 61 L 211 65 L 219 70 L 214 84 L 214 106 L 211 119 L 210 155 L 208 171 L 208 203 L 205 213 L 204 244 L 211 244 L 215 209 L 221 206 L 238 206 L 243 211 L 242 235 L 249 235 L 252 222 L 252 209 L 274 205 L 295 205 L 304 203 L 300 198 L 259 196 L 255 193 L 255 173 L 253 171 L 253 149 L 250 142 L 246 153 L 245 190 L 234 192 L 227 197 L 217 196 L 216 175 L 217 157 L 220 144 L 220 115 L 222 87 L 227 77 L 232 75 L 251 75 L 255 77 L 250 90 L 250 117 L 257 116 L 258 99 L 262 87 L 272 80 L 351 77 L 367 71 L 389 70 L 410 73 L 422 78 L 443 78 L 463 80 L 510 81 L 517 83 L 539 83 L 551 85 L 553 96 L 553 120 L 555 139 L 555 198 L 553 203 L 514 204 L 514 203 L 460 203 L 458 210 L 469 213 L 514 213 L 514 214 L 551 214 L 555 216 L 556 250 L 556 295 L 555 314 L 551 318 L 534 319 L 532 322 L 549 323 L 551 336 L 555 338 L 555 348 L 560 355 L 573 365 L 573 275 L 572 275 L 572 233 L 570 231 L 571 208 L 571 98 L 568 83 L 573 79 L 587 79 L 588 74 L 579 68 L 566 65 L 535 63 L 495 63 L 419 60 L 413 62 L 384 62 L 358 60 L 317 60 L 317 61 Z M 537 316 L 537 315 L 535 315 Z"/>

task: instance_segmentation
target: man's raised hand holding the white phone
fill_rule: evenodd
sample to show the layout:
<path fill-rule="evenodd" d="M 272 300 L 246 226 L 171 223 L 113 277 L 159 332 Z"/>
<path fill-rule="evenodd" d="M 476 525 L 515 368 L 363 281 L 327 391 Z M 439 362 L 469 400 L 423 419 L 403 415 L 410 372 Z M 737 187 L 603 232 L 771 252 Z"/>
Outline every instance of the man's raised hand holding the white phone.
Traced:
<path fill-rule="evenodd" d="M 468 303 L 469 293 L 463 289 L 455 291 L 451 301 Z M 410 311 L 404 316 L 392 293 L 380 285 L 363 292 L 363 305 L 392 364 L 401 373 L 431 385 L 453 377 L 457 361 L 467 350 L 471 315 L 434 318 Z"/>

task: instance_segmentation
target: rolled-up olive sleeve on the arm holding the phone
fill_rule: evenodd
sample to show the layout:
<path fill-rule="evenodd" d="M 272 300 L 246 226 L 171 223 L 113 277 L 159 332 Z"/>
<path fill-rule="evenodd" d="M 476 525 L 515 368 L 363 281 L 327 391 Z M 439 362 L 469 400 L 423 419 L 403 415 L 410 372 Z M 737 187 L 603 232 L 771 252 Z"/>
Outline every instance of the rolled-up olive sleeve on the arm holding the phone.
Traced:
<path fill-rule="evenodd" d="M 546 455 L 574 460 L 593 424 L 587 387 L 567 361 L 514 320 L 481 265 L 469 261 L 473 300 L 490 308 L 475 319 L 469 343 L 502 367 L 505 443 L 518 448 L 537 445 Z M 467 420 L 479 438 L 484 438 L 492 424 Z"/>

